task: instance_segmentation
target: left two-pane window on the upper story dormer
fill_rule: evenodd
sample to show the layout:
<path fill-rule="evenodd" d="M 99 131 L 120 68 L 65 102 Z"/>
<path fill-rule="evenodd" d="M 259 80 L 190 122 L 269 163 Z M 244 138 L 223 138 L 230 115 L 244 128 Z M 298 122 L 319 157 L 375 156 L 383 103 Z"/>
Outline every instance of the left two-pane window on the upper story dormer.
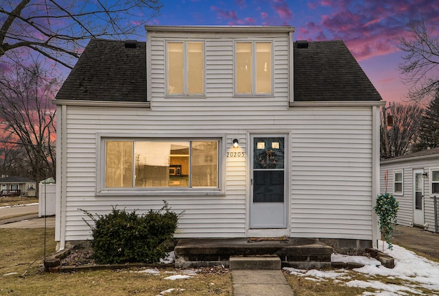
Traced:
<path fill-rule="evenodd" d="M 204 42 L 167 42 L 167 95 L 204 95 Z"/>

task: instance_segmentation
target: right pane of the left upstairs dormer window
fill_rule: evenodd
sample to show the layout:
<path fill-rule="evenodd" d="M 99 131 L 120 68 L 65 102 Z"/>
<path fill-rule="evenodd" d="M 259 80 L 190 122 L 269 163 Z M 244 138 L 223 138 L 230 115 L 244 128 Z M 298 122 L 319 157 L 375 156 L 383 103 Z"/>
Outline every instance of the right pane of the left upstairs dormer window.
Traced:
<path fill-rule="evenodd" d="M 202 94 L 204 93 L 204 54 L 202 42 L 188 43 L 187 51 L 188 93 Z"/>

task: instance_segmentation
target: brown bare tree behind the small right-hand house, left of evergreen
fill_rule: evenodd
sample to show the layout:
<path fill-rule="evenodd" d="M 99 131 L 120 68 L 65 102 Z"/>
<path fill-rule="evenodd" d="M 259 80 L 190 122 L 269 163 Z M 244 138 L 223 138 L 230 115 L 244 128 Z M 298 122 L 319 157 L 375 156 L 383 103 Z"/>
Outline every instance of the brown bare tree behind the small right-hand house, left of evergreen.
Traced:
<path fill-rule="evenodd" d="M 412 152 L 418 140 L 423 108 L 416 104 L 390 103 L 381 115 L 381 158 L 392 158 Z M 386 114 L 392 116 L 388 127 Z M 387 136 L 388 144 L 385 143 Z"/>

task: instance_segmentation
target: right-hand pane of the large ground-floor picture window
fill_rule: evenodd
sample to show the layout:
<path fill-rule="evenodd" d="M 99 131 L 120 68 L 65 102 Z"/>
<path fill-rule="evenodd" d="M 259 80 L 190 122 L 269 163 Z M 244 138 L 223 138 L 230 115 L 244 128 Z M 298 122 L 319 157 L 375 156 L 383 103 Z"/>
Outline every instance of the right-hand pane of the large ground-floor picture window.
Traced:
<path fill-rule="evenodd" d="M 218 186 L 218 142 L 192 142 L 192 187 Z"/>

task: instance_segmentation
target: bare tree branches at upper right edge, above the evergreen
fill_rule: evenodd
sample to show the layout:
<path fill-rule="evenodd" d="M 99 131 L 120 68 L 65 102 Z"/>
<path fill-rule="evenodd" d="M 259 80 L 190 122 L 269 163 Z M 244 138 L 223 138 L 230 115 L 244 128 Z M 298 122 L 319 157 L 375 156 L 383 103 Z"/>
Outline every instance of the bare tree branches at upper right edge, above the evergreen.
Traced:
<path fill-rule="evenodd" d="M 400 38 L 399 49 L 405 53 L 399 71 L 403 82 L 410 86 L 409 97 L 414 101 L 431 99 L 439 87 L 439 38 L 434 29 L 428 29 L 424 18 L 410 21 L 410 38 Z"/>

